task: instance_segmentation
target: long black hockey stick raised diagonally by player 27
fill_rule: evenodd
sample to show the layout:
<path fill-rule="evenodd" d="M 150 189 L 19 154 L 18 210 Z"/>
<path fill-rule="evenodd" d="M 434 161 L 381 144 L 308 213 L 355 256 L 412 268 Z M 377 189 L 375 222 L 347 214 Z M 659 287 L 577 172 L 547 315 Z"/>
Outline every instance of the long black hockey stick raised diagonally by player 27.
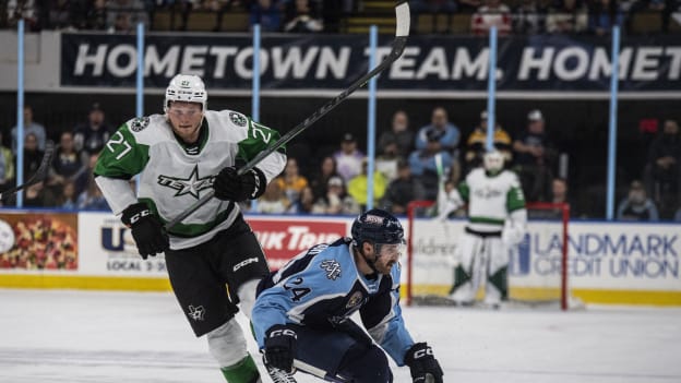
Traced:
<path fill-rule="evenodd" d="M 407 44 L 407 37 L 409 35 L 409 4 L 406 0 L 397 1 L 395 4 L 395 16 L 396 16 L 396 27 L 395 27 L 395 39 L 392 44 L 392 50 L 387 55 L 378 67 L 375 67 L 371 72 L 365 74 L 361 79 L 357 80 L 347 89 L 343 91 L 339 95 L 328 100 L 321 108 L 316 109 L 310 117 L 306 118 L 302 122 L 300 122 L 297 127 L 291 129 L 289 132 L 284 134 L 279 141 L 275 142 L 272 146 L 267 147 L 265 151 L 260 152 L 253 159 L 243 165 L 237 173 L 239 176 L 252 169 L 255 165 L 260 164 L 265 157 L 271 155 L 272 153 L 278 151 L 282 146 L 286 145 L 289 141 L 296 137 L 298 134 L 302 133 L 306 129 L 310 128 L 316 120 L 322 118 L 324 115 L 333 110 L 335 107 L 340 105 L 350 94 L 353 94 L 358 88 L 362 87 L 371 77 L 378 75 L 387 69 L 395 60 L 402 56 L 404 48 Z M 180 213 L 177 217 L 168 222 L 165 226 L 166 230 L 170 230 L 175 225 L 181 223 L 184 218 L 187 218 L 190 214 L 195 212 L 199 207 L 203 206 L 206 202 L 208 202 L 213 195 L 213 190 L 208 190 L 208 192 L 202 196 L 199 201 L 194 202 L 191 206 L 189 206 L 186 211 Z"/>

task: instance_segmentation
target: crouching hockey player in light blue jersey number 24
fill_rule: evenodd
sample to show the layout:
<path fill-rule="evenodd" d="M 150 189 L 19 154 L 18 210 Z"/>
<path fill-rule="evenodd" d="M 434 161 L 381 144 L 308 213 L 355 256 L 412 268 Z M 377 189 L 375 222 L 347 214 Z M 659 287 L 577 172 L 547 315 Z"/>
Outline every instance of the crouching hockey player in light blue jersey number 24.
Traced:
<path fill-rule="evenodd" d="M 275 381 L 295 382 L 297 369 L 331 382 L 392 382 L 387 352 L 414 382 L 442 383 L 432 349 L 413 340 L 402 316 L 404 243 L 399 220 L 371 210 L 351 238 L 314 246 L 260 283 L 251 320 Z M 357 311 L 369 335 L 350 319 Z"/>

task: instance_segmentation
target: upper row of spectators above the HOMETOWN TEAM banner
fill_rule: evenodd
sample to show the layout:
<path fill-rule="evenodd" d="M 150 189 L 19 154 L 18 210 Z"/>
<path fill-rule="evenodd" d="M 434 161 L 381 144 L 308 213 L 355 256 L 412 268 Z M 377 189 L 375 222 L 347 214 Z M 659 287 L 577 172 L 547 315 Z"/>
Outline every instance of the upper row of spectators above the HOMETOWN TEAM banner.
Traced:
<path fill-rule="evenodd" d="M 215 14 L 220 31 L 226 14 L 238 13 L 247 25 L 260 24 L 264 32 L 337 33 L 344 21 L 363 14 L 367 0 L 4 0 L 0 27 L 14 27 L 24 19 L 29 31 L 94 29 L 131 33 L 143 22 L 151 29 L 158 12 L 170 12 L 170 29 L 188 29 L 192 13 Z M 541 33 L 607 34 L 613 25 L 633 31 L 637 14 L 658 15 L 657 31 L 669 32 L 680 0 L 413 0 L 413 25 L 431 19 L 422 33 L 451 32 L 455 14 L 469 16 L 468 31 L 485 35 L 497 26 L 500 35 Z M 446 15 L 445 25 L 441 26 Z M 175 23 L 176 16 L 180 22 Z M 244 31 L 246 32 L 246 31 Z M 413 32 L 417 32 L 416 28 Z"/>

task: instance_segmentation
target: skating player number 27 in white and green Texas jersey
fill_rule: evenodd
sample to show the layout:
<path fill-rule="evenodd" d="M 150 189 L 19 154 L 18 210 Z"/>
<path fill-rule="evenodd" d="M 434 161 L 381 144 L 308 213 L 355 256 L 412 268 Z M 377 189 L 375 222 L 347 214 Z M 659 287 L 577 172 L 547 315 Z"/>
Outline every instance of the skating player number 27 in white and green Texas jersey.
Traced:
<path fill-rule="evenodd" d="M 199 76 L 176 75 L 166 89 L 165 113 L 122 124 L 94 172 L 109 206 L 132 230 L 140 255 L 165 253 L 178 302 L 194 334 L 206 335 L 227 382 L 255 383 L 260 374 L 234 315 L 240 302 L 250 318 L 268 268 L 237 203 L 259 198 L 284 169 L 286 155 L 274 152 L 239 176 L 237 158 L 252 159 L 279 134 L 240 112 L 206 105 Z M 129 184 L 135 175 L 136 195 Z M 165 223 L 211 189 L 214 199 L 166 232 Z"/>

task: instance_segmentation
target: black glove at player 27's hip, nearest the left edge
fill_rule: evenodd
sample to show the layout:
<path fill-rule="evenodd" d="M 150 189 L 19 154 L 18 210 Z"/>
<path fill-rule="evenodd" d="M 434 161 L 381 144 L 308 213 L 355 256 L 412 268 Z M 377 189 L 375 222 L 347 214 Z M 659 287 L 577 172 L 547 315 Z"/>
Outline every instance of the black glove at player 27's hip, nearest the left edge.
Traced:
<path fill-rule="evenodd" d="M 132 238 L 143 260 L 163 253 L 170 247 L 168 234 L 146 204 L 135 203 L 123 211 L 121 220 L 132 229 Z"/>

